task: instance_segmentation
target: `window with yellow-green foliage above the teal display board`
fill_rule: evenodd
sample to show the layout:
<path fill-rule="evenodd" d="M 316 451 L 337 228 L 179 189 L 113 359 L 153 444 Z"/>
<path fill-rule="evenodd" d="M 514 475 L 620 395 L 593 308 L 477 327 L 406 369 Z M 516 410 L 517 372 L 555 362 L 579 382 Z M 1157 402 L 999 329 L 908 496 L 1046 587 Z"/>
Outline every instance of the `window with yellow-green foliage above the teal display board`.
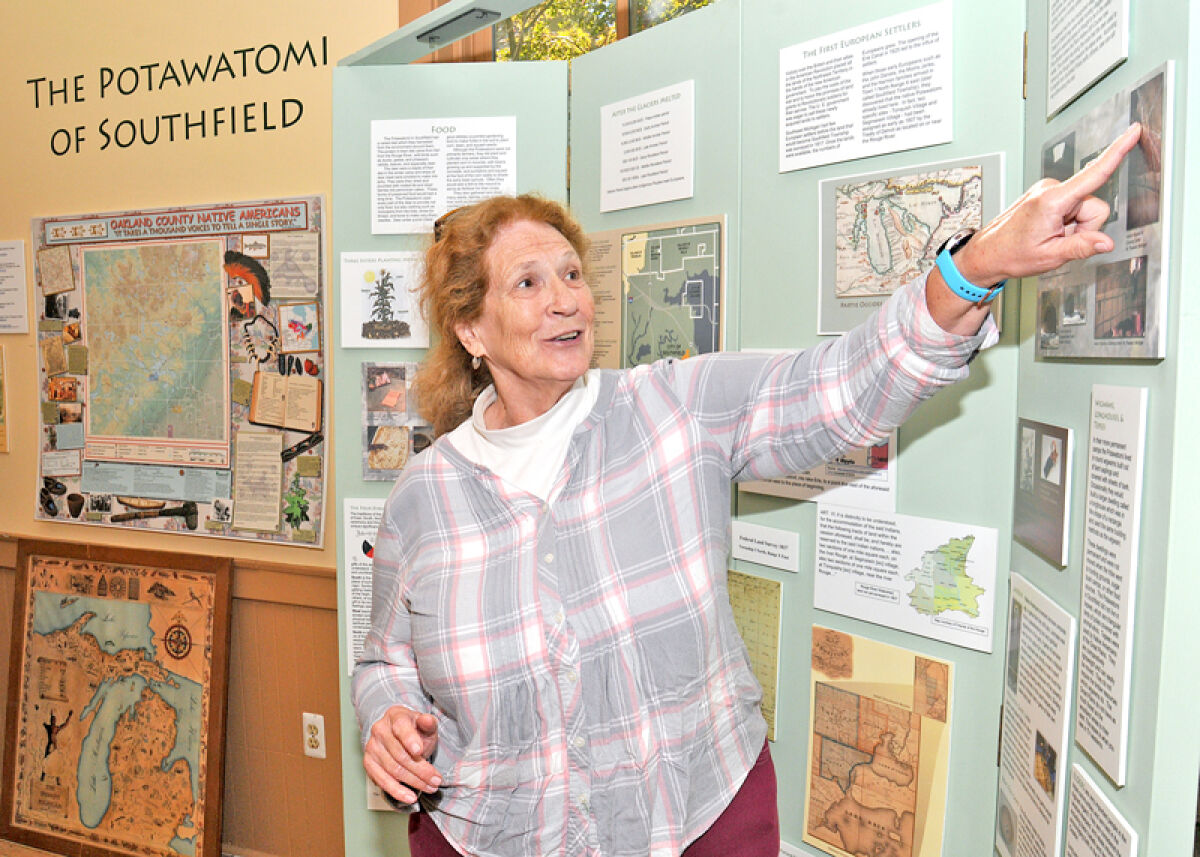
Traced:
<path fill-rule="evenodd" d="M 497 60 L 568 60 L 714 0 L 546 0 L 492 28 Z"/>

